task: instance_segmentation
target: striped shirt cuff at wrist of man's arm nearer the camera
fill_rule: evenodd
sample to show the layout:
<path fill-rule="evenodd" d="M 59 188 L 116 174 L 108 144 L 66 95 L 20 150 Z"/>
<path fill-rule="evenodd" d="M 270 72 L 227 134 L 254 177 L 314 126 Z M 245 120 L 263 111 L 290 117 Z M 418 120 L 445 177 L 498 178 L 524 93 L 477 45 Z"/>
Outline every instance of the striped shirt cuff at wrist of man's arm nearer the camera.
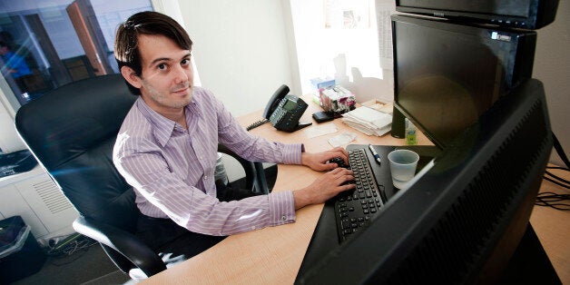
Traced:
<path fill-rule="evenodd" d="M 278 226 L 295 221 L 295 201 L 293 192 L 273 192 L 269 194 L 270 225 Z"/>

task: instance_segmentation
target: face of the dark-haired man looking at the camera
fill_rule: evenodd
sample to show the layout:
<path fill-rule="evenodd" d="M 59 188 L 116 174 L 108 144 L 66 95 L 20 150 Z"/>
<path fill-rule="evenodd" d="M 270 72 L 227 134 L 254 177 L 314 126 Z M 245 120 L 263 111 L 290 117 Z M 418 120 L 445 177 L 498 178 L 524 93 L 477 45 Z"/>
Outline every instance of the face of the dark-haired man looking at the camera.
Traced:
<path fill-rule="evenodd" d="M 143 71 L 135 87 L 158 113 L 180 111 L 192 102 L 191 54 L 163 35 L 141 34 L 138 39 Z"/>

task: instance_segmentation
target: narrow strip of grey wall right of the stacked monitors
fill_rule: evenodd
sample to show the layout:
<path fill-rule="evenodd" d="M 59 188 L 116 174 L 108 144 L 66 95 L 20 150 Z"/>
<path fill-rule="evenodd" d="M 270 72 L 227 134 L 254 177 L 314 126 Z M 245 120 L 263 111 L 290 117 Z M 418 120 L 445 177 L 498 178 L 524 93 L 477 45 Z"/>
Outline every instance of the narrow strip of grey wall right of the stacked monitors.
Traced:
<path fill-rule="evenodd" d="M 545 84 L 553 132 L 570 155 L 570 1 L 560 1 L 555 22 L 537 34 L 533 77 Z M 555 151 L 551 162 L 564 165 Z"/>

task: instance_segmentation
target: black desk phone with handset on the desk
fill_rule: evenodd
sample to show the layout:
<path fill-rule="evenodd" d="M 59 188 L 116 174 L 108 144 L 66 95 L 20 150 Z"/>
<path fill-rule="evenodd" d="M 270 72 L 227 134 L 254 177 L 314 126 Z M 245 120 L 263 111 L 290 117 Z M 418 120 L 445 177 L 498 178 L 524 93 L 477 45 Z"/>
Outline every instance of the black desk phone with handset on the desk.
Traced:
<path fill-rule="evenodd" d="M 310 125 L 311 123 L 299 123 L 300 116 L 307 110 L 307 103 L 289 91 L 287 85 L 281 85 L 267 103 L 263 112 L 264 119 L 252 123 L 247 130 L 270 122 L 276 129 L 291 133 Z"/>

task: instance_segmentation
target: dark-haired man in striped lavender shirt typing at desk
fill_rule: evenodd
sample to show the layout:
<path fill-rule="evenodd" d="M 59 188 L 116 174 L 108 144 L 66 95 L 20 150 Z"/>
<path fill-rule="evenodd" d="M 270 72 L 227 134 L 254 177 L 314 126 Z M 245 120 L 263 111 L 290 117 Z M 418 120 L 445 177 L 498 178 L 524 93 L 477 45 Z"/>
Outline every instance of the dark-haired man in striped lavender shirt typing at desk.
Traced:
<path fill-rule="evenodd" d="M 211 92 L 193 86 L 192 41 L 172 18 L 132 15 L 120 25 L 114 54 L 131 92 L 140 95 L 124 119 L 113 162 L 133 185 L 143 212 L 137 234 L 155 251 L 182 246 L 191 257 L 225 236 L 295 221 L 295 210 L 354 188 L 342 148 L 304 152 L 298 144 L 270 143 L 247 133 Z M 214 168 L 222 143 L 251 161 L 304 164 L 323 173 L 303 189 L 251 196 L 217 190 Z M 221 201 L 220 192 L 225 194 Z M 176 251 L 179 253 L 179 251 Z"/>

